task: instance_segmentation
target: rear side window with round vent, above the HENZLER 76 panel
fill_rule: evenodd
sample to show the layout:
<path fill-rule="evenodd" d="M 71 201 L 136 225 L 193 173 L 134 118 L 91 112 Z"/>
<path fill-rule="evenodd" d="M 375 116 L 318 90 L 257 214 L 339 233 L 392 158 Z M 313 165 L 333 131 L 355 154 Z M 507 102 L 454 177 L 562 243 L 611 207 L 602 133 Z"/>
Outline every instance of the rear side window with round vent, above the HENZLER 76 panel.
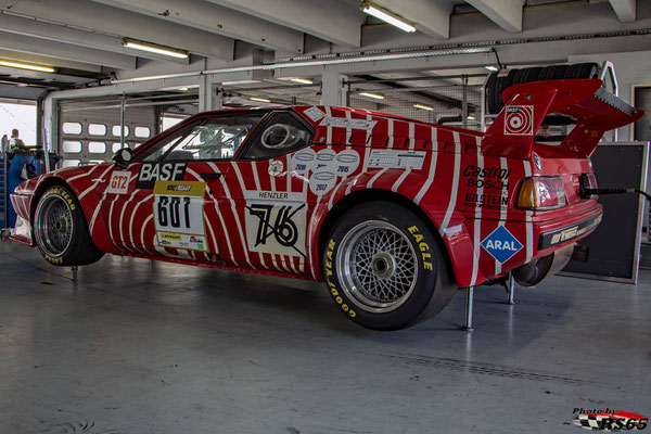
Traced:
<path fill-rule="evenodd" d="M 267 159 L 311 143 L 312 128 L 292 112 L 272 113 L 248 142 L 242 159 Z"/>

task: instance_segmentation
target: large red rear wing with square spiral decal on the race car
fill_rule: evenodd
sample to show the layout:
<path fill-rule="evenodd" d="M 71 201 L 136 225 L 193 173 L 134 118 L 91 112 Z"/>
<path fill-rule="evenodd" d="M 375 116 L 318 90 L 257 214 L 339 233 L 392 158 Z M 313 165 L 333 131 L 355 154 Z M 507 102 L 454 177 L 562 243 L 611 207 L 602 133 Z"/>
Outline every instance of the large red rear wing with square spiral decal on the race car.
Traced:
<path fill-rule="evenodd" d="M 634 123 L 644 114 L 601 85 L 599 79 L 565 79 L 506 89 L 506 105 L 484 133 L 482 153 L 531 159 L 534 137 L 545 116 L 563 113 L 576 119 L 576 126 L 559 146 L 589 157 L 605 131 Z"/>

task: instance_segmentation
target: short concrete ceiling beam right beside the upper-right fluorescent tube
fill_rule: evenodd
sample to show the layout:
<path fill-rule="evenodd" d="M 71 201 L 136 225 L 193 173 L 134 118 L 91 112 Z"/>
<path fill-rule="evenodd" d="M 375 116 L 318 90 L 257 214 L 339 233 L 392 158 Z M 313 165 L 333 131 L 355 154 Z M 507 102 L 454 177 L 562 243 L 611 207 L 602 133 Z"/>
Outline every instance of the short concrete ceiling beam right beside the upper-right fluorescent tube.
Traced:
<path fill-rule="evenodd" d="M 452 3 L 430 0 L 375 0 L 375 3 L 414 24 L 434 38 L 449 38 Z"/>

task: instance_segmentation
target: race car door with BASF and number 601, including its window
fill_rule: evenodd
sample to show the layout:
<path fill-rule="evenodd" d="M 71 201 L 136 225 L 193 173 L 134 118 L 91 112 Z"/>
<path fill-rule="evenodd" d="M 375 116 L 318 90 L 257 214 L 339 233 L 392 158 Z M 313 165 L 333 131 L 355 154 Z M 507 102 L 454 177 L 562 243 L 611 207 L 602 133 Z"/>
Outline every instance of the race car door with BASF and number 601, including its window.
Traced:
<path fill-rule="evenodd" d="M 103 206 L 115 245 L 132 254 L 219 259 L 215 192 L 264 113 L 193 118 L 163 135 L 125 170 L 114 170 Z"/>

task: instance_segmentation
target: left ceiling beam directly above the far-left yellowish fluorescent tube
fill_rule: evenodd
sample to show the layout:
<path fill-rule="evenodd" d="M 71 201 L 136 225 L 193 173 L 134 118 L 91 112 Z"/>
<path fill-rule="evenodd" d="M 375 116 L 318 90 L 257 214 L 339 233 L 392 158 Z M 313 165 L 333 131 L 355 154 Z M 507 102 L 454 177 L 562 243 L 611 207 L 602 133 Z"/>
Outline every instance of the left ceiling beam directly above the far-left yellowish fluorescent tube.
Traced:
<path fill-rule="evenodd" d="M 135 69 L 136 58 L 92 48 L 61 43 L 30 36 L 0 31 L 0 48 L 30 54 L 43 54 L 74 62 L 91 63 L 117 69 Z"/>

